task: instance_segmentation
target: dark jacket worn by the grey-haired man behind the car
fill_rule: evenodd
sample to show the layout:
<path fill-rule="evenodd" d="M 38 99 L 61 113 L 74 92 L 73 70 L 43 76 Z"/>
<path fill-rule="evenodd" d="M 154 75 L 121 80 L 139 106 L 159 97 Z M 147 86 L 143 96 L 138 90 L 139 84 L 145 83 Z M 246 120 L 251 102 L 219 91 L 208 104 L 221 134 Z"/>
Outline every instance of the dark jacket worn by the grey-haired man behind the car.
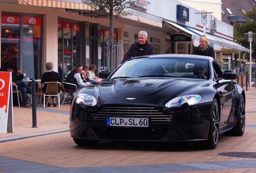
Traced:
<path fill-rule="evenodd" d="M 155 49 L 151 44 L 148 44 L 148 42 L 146 41 L 146 44 L 140 45 L 140 43 L 137 42 L 130 46 L 128 52 L 124 55 L 124 58 L 121 64 L 126 62 L 126 60 L 130 59 L 131 57 L 152 55 L 152 54 L 155 54 Z"/>

